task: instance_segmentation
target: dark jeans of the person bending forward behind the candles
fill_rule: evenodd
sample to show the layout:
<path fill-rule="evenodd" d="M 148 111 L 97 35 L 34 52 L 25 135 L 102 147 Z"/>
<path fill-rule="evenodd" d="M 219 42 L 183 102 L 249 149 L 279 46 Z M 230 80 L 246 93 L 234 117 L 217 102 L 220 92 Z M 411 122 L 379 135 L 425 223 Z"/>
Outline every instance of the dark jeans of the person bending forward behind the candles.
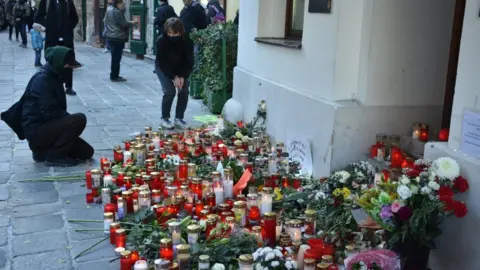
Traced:
<path fill-rule="evenodd" d="M 173 100 L 177 94 L 177 90 L 173 85 L 172 79 L 167 77 L 160 68 L 155 67 L 155 73 L 157 74 L 160 84 L 162 85 L 163 90 L 163 99 L 162 99 L 162 118 L 170 119 L 170 110 L 172 109 Z M 175 110 L 175 118 L 183 119 L 185 110 L 187 109 L 188 104 L 188 80 L 185 78 L 185 83 L 183 84 L 183 89 L 178 93 L 177 98 L 177 108 Z"/>

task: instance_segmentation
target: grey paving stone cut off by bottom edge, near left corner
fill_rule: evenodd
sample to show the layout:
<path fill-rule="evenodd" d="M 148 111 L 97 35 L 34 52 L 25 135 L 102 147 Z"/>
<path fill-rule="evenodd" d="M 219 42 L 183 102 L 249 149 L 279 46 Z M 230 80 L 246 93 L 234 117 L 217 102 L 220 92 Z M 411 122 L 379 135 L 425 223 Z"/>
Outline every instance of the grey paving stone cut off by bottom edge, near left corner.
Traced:
<path fill-rule="evenodd" d="M 67 249 L 62 249 L 15 257 L 13 258 L 12 269 L 71 270 L 73 269 L 73 266 L 69 251 Z"/>

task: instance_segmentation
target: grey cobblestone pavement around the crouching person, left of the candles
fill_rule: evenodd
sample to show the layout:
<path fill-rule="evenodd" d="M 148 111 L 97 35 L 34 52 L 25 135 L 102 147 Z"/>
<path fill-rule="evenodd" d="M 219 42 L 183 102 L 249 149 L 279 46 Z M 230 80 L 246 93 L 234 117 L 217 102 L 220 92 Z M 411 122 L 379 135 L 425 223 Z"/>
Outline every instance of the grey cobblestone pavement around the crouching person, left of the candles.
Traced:
<path fill-rule="evenodd" d="M 0 110 L 22 95 L 35 72 L 34 52 L 9 42 L 0 33 Z M 30 45 L 29 45 L 30 46 Z M 100 49 L 76 45 L 77 59 L 85 66 L 74 72 L 77 97 L 68 97 L 69 112 L 83 112 L 88 125 L 83 134 L 95 149 L 95 158 L 73 168 L 48 168 L 35 163 L 26 141 L 0 123 L 0 269 L 119 269 L 113 248 L 103 242 L 84 256 L 73 258 L 104 237 L 102 232 L 75 229 L 103 228 L 103 224 L 70 224 L 68 219 L 102 219 L 101 206 L 87 206 L 83 181 L 21 182 L 45 175 L 83 174 L 98 167 L 101 156 L 111 156 L 113 146 L 145 126 L 160 120 L 161 88 L 150 60 L 122 60 L 126 83 L 109 81 L 110 55 Z M 172 112 L 174 109 L 172 109 Z M 204 115 L 198 100 L 190 100 L 186 119 Z M 199 124 L 199 123 L 197 123 Z"/>

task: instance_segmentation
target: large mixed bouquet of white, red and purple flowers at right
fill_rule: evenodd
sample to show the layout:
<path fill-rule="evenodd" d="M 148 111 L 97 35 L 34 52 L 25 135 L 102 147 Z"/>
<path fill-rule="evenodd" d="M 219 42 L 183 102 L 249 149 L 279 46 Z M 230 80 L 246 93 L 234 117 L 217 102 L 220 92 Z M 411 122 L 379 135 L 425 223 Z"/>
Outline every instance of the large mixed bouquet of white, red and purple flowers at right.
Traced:
<path fill-rule="evenodd" d="M 416 162 L 396 181 L 366 190 L 357 203 L 390 232 L 391 245 L 407 239 L 433 248 L 442 218 L 467 214 L 465 203 L 454 199 L 456 191 L 467 190 L 468 182 L 460 176 L 458 163 L 443 157 L 432 163 Z"/>

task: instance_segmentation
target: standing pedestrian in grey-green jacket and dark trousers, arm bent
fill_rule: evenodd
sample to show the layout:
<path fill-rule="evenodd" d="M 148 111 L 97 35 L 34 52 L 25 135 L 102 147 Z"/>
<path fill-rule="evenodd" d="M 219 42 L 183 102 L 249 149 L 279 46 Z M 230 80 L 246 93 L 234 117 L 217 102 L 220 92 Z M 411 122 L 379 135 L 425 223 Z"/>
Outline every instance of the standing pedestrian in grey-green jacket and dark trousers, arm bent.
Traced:
<path fill-rule="evenodd" d="M 110 44 L 112 54 L 110 67 L 110 80 L 112 82 L 125 82 L 127 79 L 120 76 L 120 62 L 122 61 L 123 49 L 128 41 L 130 28 L 135 24 L 127 21 L 123 14 L 125 3 L 123 0 L 114 0 L 113 5 L 107 8 L 105 13 L 105 37 Z"/>

